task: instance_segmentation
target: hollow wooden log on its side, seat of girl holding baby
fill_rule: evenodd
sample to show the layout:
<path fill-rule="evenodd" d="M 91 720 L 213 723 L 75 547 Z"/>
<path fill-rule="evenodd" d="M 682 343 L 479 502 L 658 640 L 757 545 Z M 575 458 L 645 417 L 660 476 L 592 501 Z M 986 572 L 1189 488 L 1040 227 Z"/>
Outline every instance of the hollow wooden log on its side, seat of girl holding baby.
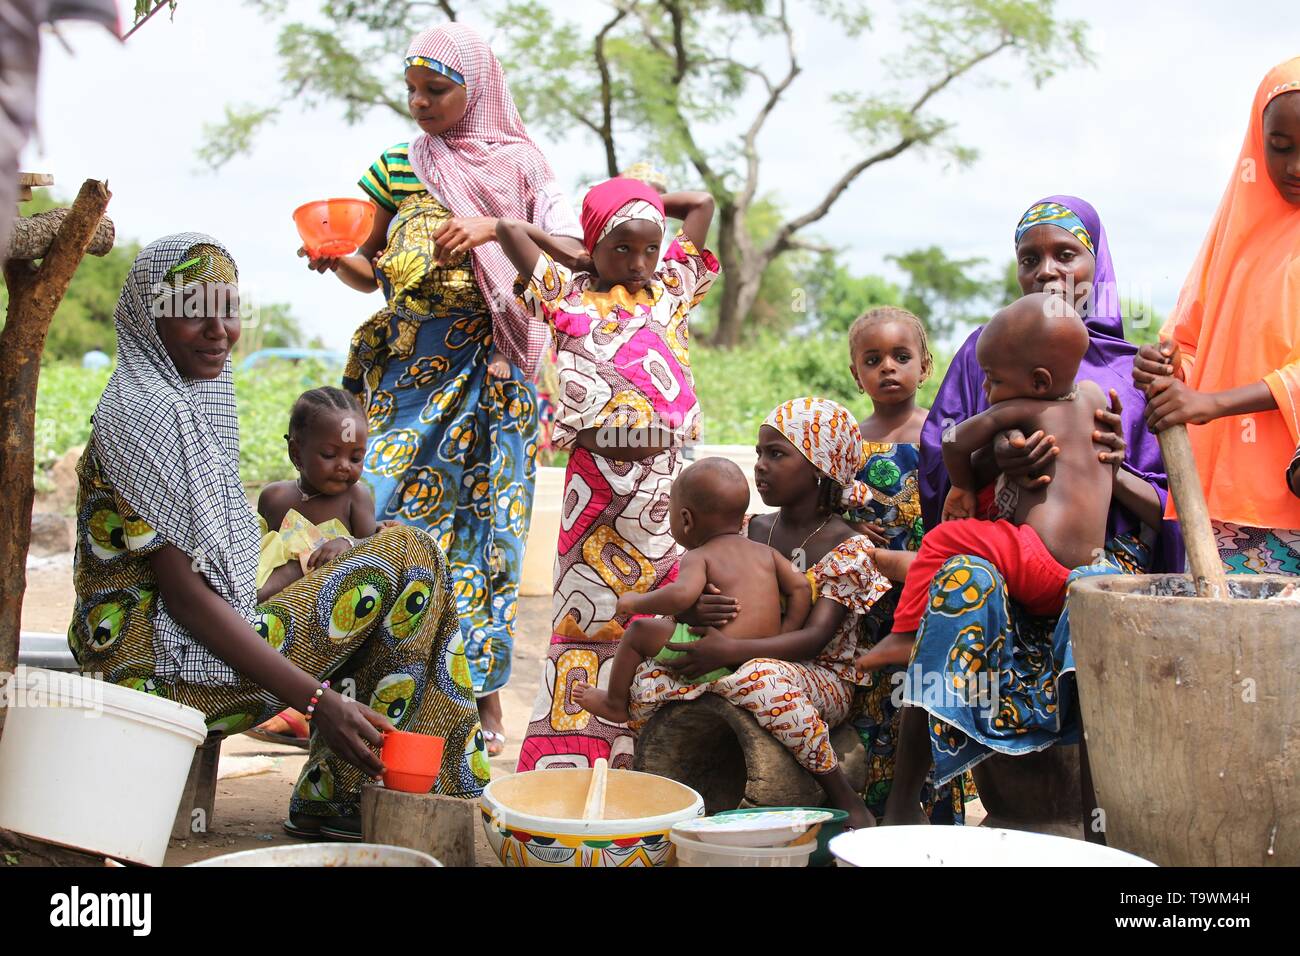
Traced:
<path fill-rule="evenodd" d="M 849 724 L 831 731 L 831 745 L 854 790 L 867 780 L 867 754 Z M 822 806 L 826 793 L 753 714 L 715 693 L 667 704 L 637 736 L 633 770 L 684 783 L 705 810 L 738 806 Z"/>

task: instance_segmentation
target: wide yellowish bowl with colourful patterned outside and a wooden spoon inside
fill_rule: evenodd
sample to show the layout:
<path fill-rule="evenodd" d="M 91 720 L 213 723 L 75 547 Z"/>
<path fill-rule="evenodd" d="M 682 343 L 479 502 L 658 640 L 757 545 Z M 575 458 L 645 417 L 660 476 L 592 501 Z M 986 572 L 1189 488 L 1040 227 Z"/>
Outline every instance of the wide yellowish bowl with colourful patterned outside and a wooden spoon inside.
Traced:
<path fill-rule="evenodd" d="M 668 831 L 699 817 L 705 800 L 666 777 L 611 770 L 603 819 L 582 819 L 592 771 L 529 770 L 493 780 L 480 804 L 484 831 L 506 866 L 666 866 Z"/>

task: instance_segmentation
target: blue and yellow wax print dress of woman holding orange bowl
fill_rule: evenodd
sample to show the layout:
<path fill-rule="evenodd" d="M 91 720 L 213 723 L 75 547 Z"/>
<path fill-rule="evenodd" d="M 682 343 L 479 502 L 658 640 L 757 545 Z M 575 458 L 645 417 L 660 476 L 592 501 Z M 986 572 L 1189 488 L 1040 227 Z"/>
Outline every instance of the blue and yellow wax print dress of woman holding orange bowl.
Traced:
<path fill-rule="evenodd" d="M 491 316 L 468 256 L 434 264 L 433 235 L 451 213 L 411 172 L 406 144 L 361 187 L 394 213 L 376 271 L 386 304 L 352 337 L 343 386 L 369 418 L 376 516 L 426 529 L 447 554 L 481 697 L 510 678 L 537 393 L 516 367 L 506 380 L 488 376 Z"/>

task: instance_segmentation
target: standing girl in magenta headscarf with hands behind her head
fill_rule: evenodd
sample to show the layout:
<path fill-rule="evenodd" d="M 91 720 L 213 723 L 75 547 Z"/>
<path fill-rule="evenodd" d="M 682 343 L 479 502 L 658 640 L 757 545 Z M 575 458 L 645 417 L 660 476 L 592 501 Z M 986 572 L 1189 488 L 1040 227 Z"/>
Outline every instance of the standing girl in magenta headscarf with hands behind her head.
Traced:
<path fill-rule="evenodd" d="M 682 229 L 660 259 L 664 216 Z M 572 701 L 595 684 L 625 618 L 619 596 L 676 574 L 668 490 L 681 446 L 699 434 L 690 375 L 690 310 L 718 277 L 701 251 L 714 216 L 707 193 L 659 195 L 610 179 L 582 203 L 590 267 L 571 271 L 543 251 L 537 226 L 502 220 L 497 237 L 525 280 L 523 302 L 555 333 L 560 388 L 552 441 L 569 450 L 555 555 L 551 653 L 519 769 L 630 761 L 621 724 Z"/>

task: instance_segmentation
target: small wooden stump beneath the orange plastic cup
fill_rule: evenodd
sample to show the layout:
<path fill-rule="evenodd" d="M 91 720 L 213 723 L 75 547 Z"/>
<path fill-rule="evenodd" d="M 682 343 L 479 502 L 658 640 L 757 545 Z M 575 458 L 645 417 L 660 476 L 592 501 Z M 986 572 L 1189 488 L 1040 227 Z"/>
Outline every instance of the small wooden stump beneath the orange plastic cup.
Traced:
<path fill-rule="evenodd" d="M 361 836 L 367 843 L 429 853 L 443 866 L 474 865 L 478 804 L 441 793 L 361 788 Z"/>

